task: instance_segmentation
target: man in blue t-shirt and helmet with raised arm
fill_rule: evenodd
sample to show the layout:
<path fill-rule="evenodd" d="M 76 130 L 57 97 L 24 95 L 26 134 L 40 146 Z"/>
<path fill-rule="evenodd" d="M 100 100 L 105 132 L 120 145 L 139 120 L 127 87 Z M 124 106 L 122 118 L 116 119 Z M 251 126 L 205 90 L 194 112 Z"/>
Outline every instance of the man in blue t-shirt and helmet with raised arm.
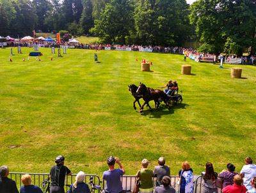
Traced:
<path fill-rule="evenodd" d="M 118 157 L 110 156 L 107 160 L 108 171 L 104 171 L 102 179 L 106 180 L 106 189 L 110 193 L 120 193 L 123 190 L 121 183 L 121 176 L 125 174 L 124 167 L 119 161 Z M 115 169 L 115 163 L 120 166 L 120 168 Z"/>

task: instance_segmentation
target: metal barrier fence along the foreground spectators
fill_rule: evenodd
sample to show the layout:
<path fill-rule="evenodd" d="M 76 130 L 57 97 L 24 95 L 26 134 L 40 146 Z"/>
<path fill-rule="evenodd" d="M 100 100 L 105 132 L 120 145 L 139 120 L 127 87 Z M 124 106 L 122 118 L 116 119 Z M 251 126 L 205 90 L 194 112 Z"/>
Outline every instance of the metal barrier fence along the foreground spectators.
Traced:
<path fill-rule="evenodd" d="M 32 178 L 32 183 L 33 185 L 37 185 L 38 187 L 40 187 L 43 191 L 45 189 L 42 188 L 42 182 L 46 179 L 49 178 L 49 173 L 10 173 L 9 174 L 9 178 L 11 178 L 12 180 L 14 180 L 17 184 L 18 189 L 20 189 L 20 187 L 23 185 L 21 182 L 21 177 L 22 175 L 25 174 L 29 174 L 31 175 Z M 97 175 L 85 175 L 85 183 L 89 183 L 89 178 L 93 176 L 93 183 L 97 184 L 97 185 L 101 185 L 102 189 L 104 189 L 105 187 L 105 183 L 104 180 L 100 181 L 99 176 Z M 179 176 L 170 176 L 171 178 L 171 185 L 172 187 L 176 190 L 176 193 L 179 193 L 179 185 L 177 184 L 177 182 L 179 181 Z M 153 177 L 153 186 L 156 187 L 156 180 L 157 178 Z M 71 175 L 71 176 L 67 176 L 65 179 L 65 192 L 68 191 L 69 187 L 67 185 L 71 185 L 72 183 L 74 183 L 76 181 L 76 175 Z M 194 193 L 202 193 L 202 176 L 198 176 L 198 175 L 194 175 Z M 123 190 L 133 190 L 134 188 L 134 183 L 136 182 L 136 176 L 122 176 L 121 178 L 121 182 L 122 182 L 122 187 Z M 100 192 L 97 192 L 100 193 Z"/>

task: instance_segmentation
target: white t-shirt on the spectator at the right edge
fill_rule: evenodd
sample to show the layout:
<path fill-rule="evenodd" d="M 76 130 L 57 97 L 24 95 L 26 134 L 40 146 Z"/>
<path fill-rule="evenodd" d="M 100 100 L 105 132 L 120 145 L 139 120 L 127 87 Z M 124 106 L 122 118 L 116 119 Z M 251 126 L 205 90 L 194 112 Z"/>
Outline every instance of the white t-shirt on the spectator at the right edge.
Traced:
<path fill-rule="evenodd" d="M 247 190 L 252 189 L 251 180 L 256 177 L 256 166 L 255 164 L 244 165 L 241 169 L 241 174 L 244 175 L 244 186 Z"/>

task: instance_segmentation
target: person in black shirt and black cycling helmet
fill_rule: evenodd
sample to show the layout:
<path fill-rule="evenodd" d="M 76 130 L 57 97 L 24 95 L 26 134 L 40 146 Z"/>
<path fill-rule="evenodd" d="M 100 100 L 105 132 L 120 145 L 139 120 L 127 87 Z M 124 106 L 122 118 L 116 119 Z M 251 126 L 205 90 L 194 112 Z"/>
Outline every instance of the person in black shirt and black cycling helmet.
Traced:
<path fill-rule="evenodd" d="M 71 175 L 70 169 L 64 166 L 64 161 L 65 157 L 59 155 L 55 159 L 56 165 L 51 168 L 51 193 L 64 193 L 65 177 Z"/>

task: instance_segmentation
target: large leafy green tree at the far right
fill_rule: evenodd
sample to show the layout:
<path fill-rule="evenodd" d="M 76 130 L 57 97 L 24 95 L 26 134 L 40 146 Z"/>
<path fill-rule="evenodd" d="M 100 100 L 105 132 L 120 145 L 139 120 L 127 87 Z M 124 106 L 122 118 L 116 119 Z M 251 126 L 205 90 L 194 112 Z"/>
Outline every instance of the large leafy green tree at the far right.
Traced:
<path fill-rule="evenodd" d="M 242 55 L 255 46 L 255 2 L 200 0 L 192 4 L 190 20 L 203 45 L 202 52 Z"/>

